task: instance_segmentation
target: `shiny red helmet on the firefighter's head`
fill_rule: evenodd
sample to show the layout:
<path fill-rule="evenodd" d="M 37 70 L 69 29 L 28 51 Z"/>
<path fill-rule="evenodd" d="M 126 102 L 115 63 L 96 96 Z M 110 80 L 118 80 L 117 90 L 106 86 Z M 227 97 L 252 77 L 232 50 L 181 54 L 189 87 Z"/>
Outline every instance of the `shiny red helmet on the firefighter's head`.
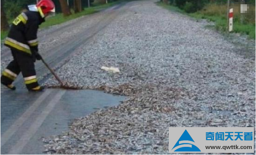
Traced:
<path fill-rule="evenodd" d="M 40 8 L 39 10 L 42 10 L 44 15 L 49 12 L 55 12 L 55 5 L 52 0 L 40 0 L 37 3 L 37 8 Z"/>

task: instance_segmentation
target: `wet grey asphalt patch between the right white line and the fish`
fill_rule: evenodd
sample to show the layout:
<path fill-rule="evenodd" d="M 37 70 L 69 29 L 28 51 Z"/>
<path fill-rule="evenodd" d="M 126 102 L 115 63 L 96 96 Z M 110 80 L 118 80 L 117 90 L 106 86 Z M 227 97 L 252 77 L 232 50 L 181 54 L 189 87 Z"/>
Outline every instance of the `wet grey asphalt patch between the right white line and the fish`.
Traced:
<path fill-rule="evenodd" d="M 55 106 L 40 130 L 37 131 L 37 136 L 33 137 L 34 140 L 30 141 L 22 153 L 31 153 L 31 148 L 37 150 L 37 153 L 42 153 L 44 148 L 41 137 L 59 135 L 63 131 L 68 131 L 68 125 L 74 119 L 84 117 L 99 109 L 117 106 L 125 98 L 124 96 L 106 94 L 103 91 L 67 90 L 60 103 Z M 40 141 L 38 141 L 39 139 Z M 38 141 L 37 145 L 34 144 L 36 140 Z"/>

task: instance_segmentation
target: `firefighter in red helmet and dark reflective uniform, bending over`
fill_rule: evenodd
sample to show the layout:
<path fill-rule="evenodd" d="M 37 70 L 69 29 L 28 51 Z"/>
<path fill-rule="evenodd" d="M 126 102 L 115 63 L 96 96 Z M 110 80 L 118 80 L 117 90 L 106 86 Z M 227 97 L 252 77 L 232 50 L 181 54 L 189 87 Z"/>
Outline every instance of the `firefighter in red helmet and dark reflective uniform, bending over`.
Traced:
<path fill-rule="evenodd" d="M 42 91 L 43 86 L 37 82 L 34 65 L 36 59 L 42 59 L 38 53 L 37 30 L 45 17 L 55 12 L 55 5 L 52 0 L 40 0 L 36 5 L 28 6 L 28 9 L 15 18 L 4 41 L 4 45 L 11 49 L 13 60 L 3 71 L 1 83 L 15 90 L 12 82 L 21 72 L 29 91 Z"/>

